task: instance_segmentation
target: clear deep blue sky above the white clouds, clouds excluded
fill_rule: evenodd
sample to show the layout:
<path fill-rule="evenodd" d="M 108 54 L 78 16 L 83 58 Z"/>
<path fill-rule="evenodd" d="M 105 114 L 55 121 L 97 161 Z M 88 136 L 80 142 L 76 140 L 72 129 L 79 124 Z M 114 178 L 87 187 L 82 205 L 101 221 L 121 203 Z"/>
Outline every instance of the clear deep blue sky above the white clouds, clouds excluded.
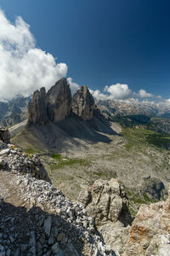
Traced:
<path fill-rule="evenodd" d="M 66 63 L 77 84 L 170 97 L 169 0 L 1 0 L 0 8 L 12 22 L 20 15 L 36 47 Z"/>

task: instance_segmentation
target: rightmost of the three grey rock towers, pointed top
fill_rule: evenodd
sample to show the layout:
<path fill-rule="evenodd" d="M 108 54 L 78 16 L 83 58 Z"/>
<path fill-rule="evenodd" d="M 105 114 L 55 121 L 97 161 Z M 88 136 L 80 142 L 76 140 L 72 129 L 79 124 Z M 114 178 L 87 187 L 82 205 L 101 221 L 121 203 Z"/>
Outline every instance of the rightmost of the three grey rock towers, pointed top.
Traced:
<path fill-rule="evenodd" d="M 81 117 L 82 120 L 92 119 L 94 117 L 94 97 L 88 90 L 88 87 L 82 85 L 72 97 L 72 113 Z"/>

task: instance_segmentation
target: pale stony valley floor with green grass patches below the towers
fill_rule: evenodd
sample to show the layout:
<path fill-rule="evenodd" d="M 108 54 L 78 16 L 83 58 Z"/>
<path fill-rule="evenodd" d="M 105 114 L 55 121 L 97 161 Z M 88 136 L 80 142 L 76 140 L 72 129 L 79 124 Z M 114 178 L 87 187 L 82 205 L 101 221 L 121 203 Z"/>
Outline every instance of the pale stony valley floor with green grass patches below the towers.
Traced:
<path fill-rule="evenodd" d="M 55 132 L 54 139 L 38 127 L 39 130 L 34 129 L 35 134 L 32 128 L 32 131 L 26 129 L 12 141 L 29 154 L 39 154 L 54 186 L 71 200 L 77 201 L 79 192 L 96 179 L 109 180 L 111 177 L 125 185 L 133 214 L 139 204 L 159 201 L 166 196 L 170 182 L 170 153 L 149 142 L 151 131 L 122 128 L 111 123 L 115 134 L 98 131 L 99 140 L 93 142 L 66 137 L 65 132 L 55 127 L 45 128 Z M 41 132 L 52 148 L 45 148 L 43 140 L 38 138 Z M 105 141 L 102 141 L 103 137 Z"/>

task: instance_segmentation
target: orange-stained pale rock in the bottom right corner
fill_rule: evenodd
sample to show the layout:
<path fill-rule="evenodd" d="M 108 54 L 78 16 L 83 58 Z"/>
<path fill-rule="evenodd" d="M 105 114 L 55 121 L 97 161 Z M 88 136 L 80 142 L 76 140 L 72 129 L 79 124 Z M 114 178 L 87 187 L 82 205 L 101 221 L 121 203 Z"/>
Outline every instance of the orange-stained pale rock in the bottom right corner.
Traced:
<path fill-rule="evenodd" d="M 170 252 L 170 186 L 167 201 L 142 205 L 130 230 L 123 256 L 168 256 Z"/>

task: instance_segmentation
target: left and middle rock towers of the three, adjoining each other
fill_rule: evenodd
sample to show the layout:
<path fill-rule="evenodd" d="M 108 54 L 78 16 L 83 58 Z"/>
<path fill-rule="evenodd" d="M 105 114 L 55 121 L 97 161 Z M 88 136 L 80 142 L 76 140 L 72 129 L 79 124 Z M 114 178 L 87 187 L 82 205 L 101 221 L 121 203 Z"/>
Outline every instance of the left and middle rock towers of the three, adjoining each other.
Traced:
<path fill-rule="evenodd" d="M 66 79 L 60 79 L 46 93 L 36 90 L 28 103 L 28 124 L 46 124 L 65 119 L 71 111 L 71 90 Z"/>

